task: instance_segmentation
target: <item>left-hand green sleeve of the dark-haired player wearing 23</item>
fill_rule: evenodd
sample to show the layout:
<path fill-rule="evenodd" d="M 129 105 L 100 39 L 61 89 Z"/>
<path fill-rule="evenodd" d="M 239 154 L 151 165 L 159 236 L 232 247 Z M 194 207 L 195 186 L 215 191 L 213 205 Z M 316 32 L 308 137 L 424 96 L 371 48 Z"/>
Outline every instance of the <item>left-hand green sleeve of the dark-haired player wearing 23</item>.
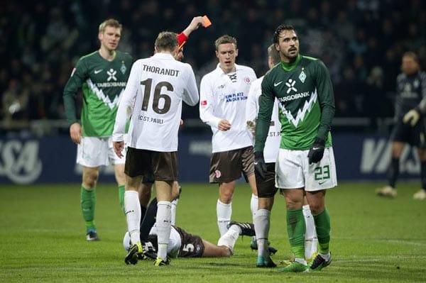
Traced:
<path fill-rule="evenodd" d="M 256 123 L 256 138 L 254 142 L 254 152 L 263 152 L 269 127 L 271 126 L 271 116 L 273 111 L 273 94 L 268 74 L 263 77 L 262 94 L 259 101 L 259 112 Z"/>

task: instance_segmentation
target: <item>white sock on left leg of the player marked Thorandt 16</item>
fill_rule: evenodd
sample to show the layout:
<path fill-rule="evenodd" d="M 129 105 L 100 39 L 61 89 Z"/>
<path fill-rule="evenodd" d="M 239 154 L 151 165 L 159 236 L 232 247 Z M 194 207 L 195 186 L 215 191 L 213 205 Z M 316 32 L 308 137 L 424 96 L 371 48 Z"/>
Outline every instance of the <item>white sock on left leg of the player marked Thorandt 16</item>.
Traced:
<path fill-rule="evenodd" d="M 138 192 L 124 192 L 124 209 L 126 211 L 127 231 L 129 231 L 131 243 L 134 245 L 141 242 L 141 204 Z"/>

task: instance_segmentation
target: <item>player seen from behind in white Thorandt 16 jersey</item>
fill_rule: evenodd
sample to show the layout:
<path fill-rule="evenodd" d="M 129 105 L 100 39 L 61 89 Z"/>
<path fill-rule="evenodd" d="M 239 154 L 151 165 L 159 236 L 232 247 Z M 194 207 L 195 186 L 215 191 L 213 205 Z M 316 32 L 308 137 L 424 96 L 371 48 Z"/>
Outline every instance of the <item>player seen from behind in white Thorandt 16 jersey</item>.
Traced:
<path fill-rule="evenodd" d="M 143 177 L 152 175 L 158 199 L 158 258 L 155 265 L 170 263 L 167 257 L 170 201 L 173 182 L 178 179 L 178 128 L 182 100 L 190 106 L 195 106 L 199 100 L 192 67 L 175 60 L 176 52 L 176 34 L 159 33 L 155 40 L 155 55 L 133 64 L 116 116 L 114 151 L 122 157 L 126 121 L 131 115 L 124 170 L 124 206 L 133 245 L 124 259 L 126 264 L 136 264 L 138 254 L 142 253 L 138 188 Z"/>

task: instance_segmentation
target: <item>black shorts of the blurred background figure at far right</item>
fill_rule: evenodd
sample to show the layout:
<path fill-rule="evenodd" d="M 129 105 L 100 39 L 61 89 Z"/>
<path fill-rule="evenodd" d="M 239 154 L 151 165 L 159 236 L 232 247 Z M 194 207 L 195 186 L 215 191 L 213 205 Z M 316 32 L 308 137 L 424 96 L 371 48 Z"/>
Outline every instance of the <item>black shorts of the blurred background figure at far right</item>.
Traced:
<path fill-rule="evenodd" d="M 414 127 L 410 123 L 404 123 L 403 118 L 398 119 L 391 134 L 391 140 L 395 142 L 408 143 L 417 148 L 426 148 L 425 120 L 420 120 Z"/>

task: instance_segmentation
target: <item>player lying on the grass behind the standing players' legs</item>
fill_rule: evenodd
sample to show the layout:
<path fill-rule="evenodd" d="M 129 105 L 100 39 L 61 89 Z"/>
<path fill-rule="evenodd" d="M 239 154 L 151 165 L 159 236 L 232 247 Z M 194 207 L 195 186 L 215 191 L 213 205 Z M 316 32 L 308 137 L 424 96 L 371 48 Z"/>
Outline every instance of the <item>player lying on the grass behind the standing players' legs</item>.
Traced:
<path fill-rule="evenodd" d="M 187 233 L 180 227 L 172 226 L 167 255 L 168 257 L 230 257 L 234 253 L 234 245 L 239 235 L 253 236 L 253 223 L 231 221 L 228 231 L 219 238 L 217 245 L 209 243 L 198 235 Z M 124 235 L 123 245 L 126 250 L 129 250 L 131 246 L 129 232 Z M 157 227 L 153 226 L 148 235 L 148 242 L 145 243 L 143 253 L 138 255 L 138 259 L 155 260 L 157 246 Z"/>

